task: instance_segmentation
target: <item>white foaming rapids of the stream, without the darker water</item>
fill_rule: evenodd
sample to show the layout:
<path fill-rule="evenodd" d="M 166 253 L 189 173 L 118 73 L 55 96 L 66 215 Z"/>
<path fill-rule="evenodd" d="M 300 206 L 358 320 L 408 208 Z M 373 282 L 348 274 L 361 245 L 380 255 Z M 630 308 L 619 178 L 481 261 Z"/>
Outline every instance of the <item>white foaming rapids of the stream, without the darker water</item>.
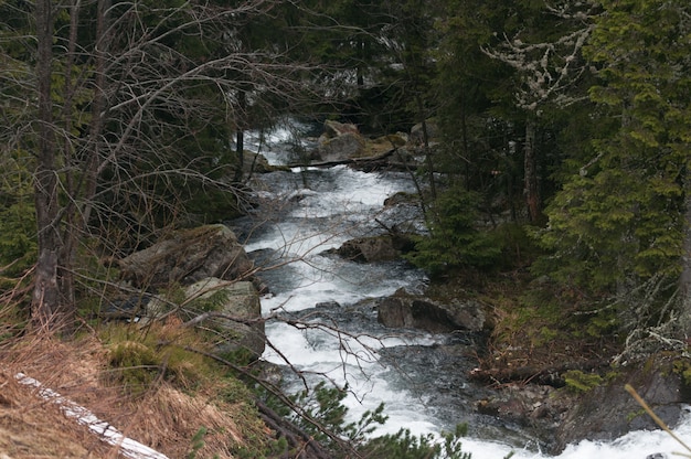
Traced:
<path fill-rule="evenodd" d="M 272 163 L 285 163 L 286 142 L 290 132 L 277 130 L 262 140 L 262 153 Z M 257 140 L 255 140 L 255 143 Z M 252 142 L 249 142 L 252 145 Z M 340 246 L 376 227 L 375 216 L 382 212 L 384 200 L 395 192 L 414 191 L 405 175 L 359 172 L 346 167 L 328 170 L 293 170 L 283 172 L 283 188 L 274 179 L 267 182 L 275 199 L 299 201 L 284 217 L 248 238 L 246 250 L 270 250 L 272 263 L 285 265 L 267 273 L 265 281 L 272 293 L 262 299 L 265 314 L 275 311 L 298 313 L 321 302 L 353 305 L 362 299 L 383 297 L 398 288 L 421 286 L 422 273 L 401 266 L 366 266 L 325 256 L 323 250 Z M 381 230 L 381 228 L 380 228 Z M 387 423 L 375 435 L 407 428 L 413 434 L 439 434 L 439 423 L 427 409 L 426 401 L 413 396 L 400 385 L 391 384 L 391 369 L 381 364 L 378 351 L 402 344 L 432 345 L 438 337 L 428 333 L 382 337 L 344 337 L 328 330 L 298 330 L 283 322 L 266 327 L 268 340 L 279 353 L 267 346 L 264 359 L 285 364 L 285 360 L 301 371 L 326 374 L 338 384 L 348 384 L 351 395 L 344 403 L 352 420 L 362 413 L 385 404 Z M 463 419 L 459 419 L 463 421 Z M 676 434 L 691 442 L 691 414 Z M 463 450 L 474 459 L 501 459 L 513 452 L 517 459 L 552 458 L 534 450 L 509 446 L 501 440 L 465 438 Z M 661 430 L 634 431 L 613 441 L 581 441 L 570 445 L 560 459 L 670 459 L 685 451 Z"/>

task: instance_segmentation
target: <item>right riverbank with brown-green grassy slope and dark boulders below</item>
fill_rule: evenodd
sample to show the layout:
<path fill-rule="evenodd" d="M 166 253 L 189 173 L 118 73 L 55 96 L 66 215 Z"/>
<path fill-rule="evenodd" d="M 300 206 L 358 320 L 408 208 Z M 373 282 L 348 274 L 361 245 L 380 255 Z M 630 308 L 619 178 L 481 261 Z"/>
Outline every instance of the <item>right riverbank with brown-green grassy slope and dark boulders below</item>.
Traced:
<path fill-rule="evenodd" d="M 491 391 L 478 414 L 503 419 L 560 455 L 583 440 L 613 441 L 660 427 L 625 391 L 634 387 L 671 428 L 691 401 L 688 355 L 658 352 L 618 362 L 623 340 L 586 329 L 573 310 L 545 307 L 544 280 L 524 270 L 466 273 L 430 286 L 429 295 L 472 295 L 489 305 L 491 330 L 469 378 Z"/>

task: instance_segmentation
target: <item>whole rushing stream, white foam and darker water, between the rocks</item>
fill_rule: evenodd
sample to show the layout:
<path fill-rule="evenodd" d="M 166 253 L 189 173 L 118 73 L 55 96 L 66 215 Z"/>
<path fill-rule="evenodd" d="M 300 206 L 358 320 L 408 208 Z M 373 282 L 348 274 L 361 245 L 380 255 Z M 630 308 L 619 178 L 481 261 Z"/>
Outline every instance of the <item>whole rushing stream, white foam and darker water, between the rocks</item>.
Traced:
<path fill-rule="evenodd" d="M 272 163 L 280 164 L 288 161 L 290 139 L 279 130 L 254 145 Z M 511 451 L 521 459 L 548 457 L 520 429 L 472 414 L 464 394 L 469 387 L 465 374 L 474 362 L 463 353 L 440 357 L 434 352 L 472 344 L 465 342 L 468 337 L 391 330 L 376 322 L 375 299 L 400 288 L 422 291 L 423 273 L 404 263 L 365 265 L 327 252 L 350 238 L 379 234 L 383 225 L 413 218 L 414 210 L 383 207 L 394 193 L 414 191 L 405 174 L 336 167 L 273 172 L 256 180 L 263 204 L 256 214 L 237 222 L 236 230 L 246 237 L 246 250 L 263 266 L 272 266 L 262 274 L 270 289 L 262 299 L 263 313 L 307 324 L 296 328 L 269 321 L 267 339 L 275 349 L 267 348 L 266 361 L 289 363 L 312 383 L 326 376 L 341 386 L 348 384 L 344 403 L 351 420 L 384 403 L 389 420 L 376 434 L 405 427 L 414 434 L 436 435 L 469 421 L 464 451 L 472 452 L 474 459 L 503 458 Z M 327 328 L 310 327 L 315 323 Z M 300 385 L 301 380 L 295 378 L 293 388 Z M 691 439 L 691 416 L 677 434 Z M 640 431 L 609 442 L 582 441 L 559 458 L 645 459 L 659 453 L 655 458 L 661 459 L 680 450 L 665 433 Z"/>

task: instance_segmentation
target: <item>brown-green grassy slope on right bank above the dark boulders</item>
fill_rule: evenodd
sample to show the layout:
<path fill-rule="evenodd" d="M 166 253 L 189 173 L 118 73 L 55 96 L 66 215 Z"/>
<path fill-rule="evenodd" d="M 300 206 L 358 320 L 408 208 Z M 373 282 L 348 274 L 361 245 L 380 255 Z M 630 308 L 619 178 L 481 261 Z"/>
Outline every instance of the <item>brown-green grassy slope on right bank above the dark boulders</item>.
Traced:
<path fill-rule="evenodd" d="M 578 299 L 555 303 L 549 289 L 534 288 L 517 269 L 492 276 L 459 275 L 433 287 L 432 295 L 474 297 L 489 308 L 487 349 L 478 352 L 474 376 L 495 387 L 506 384 L 562 386 L 566 371 L 606 372 L 620 352 L 619 338 L 606 327 L 578 320 Z M 548 298 L 545 298 L 548 297 Z"/>

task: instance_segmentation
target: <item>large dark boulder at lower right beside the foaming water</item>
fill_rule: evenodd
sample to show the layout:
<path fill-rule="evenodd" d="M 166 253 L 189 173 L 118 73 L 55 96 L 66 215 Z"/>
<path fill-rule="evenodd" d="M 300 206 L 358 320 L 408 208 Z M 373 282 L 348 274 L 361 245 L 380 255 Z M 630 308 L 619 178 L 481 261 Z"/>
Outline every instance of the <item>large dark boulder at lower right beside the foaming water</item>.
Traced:
<path fill-rule="evenodd" d="M 499 417 L 507 425 L 520 426 L 545 452 L 560 455 L 568 445 L 582 440 L 612 441 L 630 431 L 659 428 L 625 391 L 626 384 L 637 391 L 665 424 L 674 428 L 690 401 L 684 369 L 691 369 L 688 359 L 658 354 L 639 365 L 608 367 L 604 376 L 573 372 L 572 380 L 577 375 L 583 381 L 599 377 L 602 382 L 593 387 L 571 383 L 555 388 L 532 384 L 538 377 L 530 376 L 525 381 L 531 384 L 501 384 L 501 389 L 479 401 L 476 409 Z M 554 377 L 568 380 L 567 373 Z"/>

